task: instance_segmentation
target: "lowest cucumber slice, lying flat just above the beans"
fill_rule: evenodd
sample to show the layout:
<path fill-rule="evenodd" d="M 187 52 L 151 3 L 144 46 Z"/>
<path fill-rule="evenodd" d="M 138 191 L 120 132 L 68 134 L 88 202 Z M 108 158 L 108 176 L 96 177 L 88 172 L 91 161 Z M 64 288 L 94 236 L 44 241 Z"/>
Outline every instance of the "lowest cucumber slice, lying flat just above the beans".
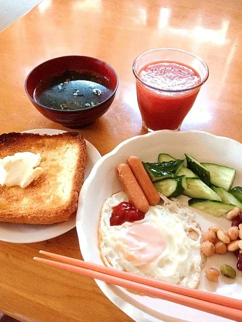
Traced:
<path fill-rule="evenodd" d="M 214 217 L 225 215 L 227 211 L 234 208 L 234 205 L 231 204 L 201 199 L 190 199 L 188 204 L 189 206 L 213 215 Z"/>

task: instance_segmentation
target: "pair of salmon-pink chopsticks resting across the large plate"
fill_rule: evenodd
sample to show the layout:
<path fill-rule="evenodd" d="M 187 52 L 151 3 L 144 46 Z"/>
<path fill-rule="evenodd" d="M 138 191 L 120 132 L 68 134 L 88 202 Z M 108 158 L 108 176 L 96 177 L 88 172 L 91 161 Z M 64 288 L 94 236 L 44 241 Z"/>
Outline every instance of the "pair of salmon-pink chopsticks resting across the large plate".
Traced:
<path fill-rule="evenodd" d="M 163 300 L 196 308 L 237 322 L 242 322 L 242 300 L 168 284 L 148 277 L 118 271 L 113 268 L 80 261 L 62 255 L 44 251 L 39 251 L 39 253 L 69 264 L 63 264 L 39 257 L 34 257 L 35 261 L 62 268 L 66 271 L 86 277 L 102 280 L 109 284 L 122 286 Z"/>

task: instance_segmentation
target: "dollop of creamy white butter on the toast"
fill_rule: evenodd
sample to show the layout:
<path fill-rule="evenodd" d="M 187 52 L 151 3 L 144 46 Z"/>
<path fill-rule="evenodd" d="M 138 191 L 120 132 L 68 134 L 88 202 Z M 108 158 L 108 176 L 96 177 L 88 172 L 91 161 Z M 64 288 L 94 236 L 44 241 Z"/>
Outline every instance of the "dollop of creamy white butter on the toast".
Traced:
<path fill-rule="evenodd" d="M 17 152 L 0 159 L 0 184 L 7 187 L 27 187 L 44 171 L 38 167 L 41 161 L 39 153 Z"/>

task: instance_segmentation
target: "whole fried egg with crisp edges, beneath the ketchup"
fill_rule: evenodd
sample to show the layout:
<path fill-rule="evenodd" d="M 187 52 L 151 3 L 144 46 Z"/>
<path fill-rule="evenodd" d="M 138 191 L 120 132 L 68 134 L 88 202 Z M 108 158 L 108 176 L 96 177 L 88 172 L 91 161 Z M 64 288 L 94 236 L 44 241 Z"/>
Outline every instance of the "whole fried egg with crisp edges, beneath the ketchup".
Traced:
<path fill-rule="evenodd" d="M 110 226 L 113 207 L 129 201 L 120 191 L 104 202 L 99 223 L 99 250 L 106 266 L 196 288 L 204 257 L 202 231 L 195 214 L 178 200 L 163 195 L 144 219 Z"/>

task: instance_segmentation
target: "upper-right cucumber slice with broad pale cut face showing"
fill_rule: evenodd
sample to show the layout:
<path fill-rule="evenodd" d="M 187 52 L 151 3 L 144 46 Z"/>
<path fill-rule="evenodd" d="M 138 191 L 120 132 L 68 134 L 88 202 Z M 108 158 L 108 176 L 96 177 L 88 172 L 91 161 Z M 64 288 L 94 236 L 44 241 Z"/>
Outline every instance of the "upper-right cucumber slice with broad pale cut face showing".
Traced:
<path fill-rule="evenodd" d="M 227 191 L 232 187 L 236 173 L 235 169 L 215 165 L 213 163 L 202 162 L 201 165 L 209 171 L 210 181 L 213 185 L 221 187 Z"/>

